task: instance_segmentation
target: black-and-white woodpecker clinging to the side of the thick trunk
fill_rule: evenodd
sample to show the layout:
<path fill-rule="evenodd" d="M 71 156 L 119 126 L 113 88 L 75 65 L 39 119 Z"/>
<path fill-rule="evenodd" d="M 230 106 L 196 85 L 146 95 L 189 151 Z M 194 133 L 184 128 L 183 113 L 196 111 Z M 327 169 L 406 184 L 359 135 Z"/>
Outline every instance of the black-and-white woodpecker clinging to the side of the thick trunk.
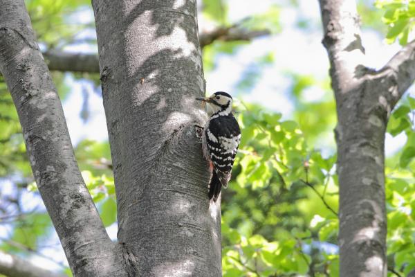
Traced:
<path fill-rule="evenodd" d="M 203 156 L 210 163 L 212 177 L 209 184 L 209 199 L 214 202 L 227 188 L 235 155 L 241 141 L 241 129 L 232 114 L 232 96 L 217 91 L 208 98 L 196 98 L 205 102 L 209 120 L 202 133 Z"/>

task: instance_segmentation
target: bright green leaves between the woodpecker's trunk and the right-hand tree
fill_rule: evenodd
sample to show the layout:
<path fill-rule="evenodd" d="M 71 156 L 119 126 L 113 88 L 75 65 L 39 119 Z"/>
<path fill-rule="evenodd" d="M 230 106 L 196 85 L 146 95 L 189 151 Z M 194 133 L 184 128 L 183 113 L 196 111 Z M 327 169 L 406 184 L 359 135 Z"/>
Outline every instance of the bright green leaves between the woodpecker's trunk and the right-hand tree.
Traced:
<path fill-rule="evenodd" d="M 308 149 L 295 121 L 254 105 L 239 109 L 241 145 L 223 193 L 223 276 L 331 274 L 337 256 L 326 258 L 315 245 L 335 242 L 338 220 L 301 180 L 309 179 L 335 208 L 335 157 Z"/>

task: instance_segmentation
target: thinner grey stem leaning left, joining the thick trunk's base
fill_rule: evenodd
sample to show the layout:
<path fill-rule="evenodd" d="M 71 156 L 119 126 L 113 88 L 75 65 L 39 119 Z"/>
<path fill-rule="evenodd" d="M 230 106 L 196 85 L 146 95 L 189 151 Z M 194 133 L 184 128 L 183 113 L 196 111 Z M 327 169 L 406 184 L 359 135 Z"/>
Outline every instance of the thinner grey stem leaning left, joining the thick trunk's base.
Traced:
<path fill-rule="evenodd" d="M 75 276 L 122 276 L 122 250 L 109 239 L 80 174 L 62 105 L 24 1 L 0 0 L 0 6 L 0 71 L 17 108 L 39 192 L 71 270 Z"/>

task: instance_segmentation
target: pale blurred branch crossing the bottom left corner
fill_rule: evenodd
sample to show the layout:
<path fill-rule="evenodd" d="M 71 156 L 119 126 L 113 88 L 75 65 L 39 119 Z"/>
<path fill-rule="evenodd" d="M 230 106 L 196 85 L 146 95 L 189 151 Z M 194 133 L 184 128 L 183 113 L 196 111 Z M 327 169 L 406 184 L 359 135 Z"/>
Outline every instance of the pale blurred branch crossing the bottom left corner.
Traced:
<path fill-rule="evenodd" d="M 28 260 L 3 251 L 0 251 L 0 274 L 9 277 L 66 277 L 66 274 L 42 269 Z"/>

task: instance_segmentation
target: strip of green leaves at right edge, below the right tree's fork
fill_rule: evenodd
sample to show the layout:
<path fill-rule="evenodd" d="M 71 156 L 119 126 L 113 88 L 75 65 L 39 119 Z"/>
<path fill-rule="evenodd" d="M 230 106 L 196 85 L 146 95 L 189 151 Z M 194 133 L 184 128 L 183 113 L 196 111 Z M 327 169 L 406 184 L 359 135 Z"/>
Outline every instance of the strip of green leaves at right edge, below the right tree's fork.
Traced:
<path fill-rule="evenodd" d="M 387 132 L 405 134 L 407 141 L 386 160 L 387 253 L 402 276 L 414 269 L 415 246 L 415 101 L 408 96 L 391 114 Z"/>

